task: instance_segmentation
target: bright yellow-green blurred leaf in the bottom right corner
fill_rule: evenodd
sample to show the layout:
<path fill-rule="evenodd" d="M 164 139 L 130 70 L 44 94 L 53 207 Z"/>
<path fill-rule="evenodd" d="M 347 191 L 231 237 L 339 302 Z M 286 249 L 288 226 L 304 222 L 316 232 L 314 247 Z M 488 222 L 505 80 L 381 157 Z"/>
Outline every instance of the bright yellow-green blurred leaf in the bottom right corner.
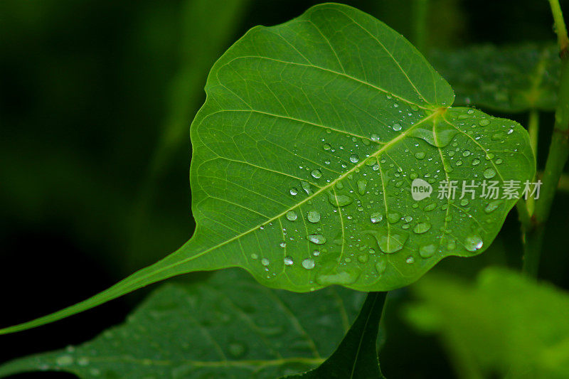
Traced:
<path fill-rule="evenodd" d="M 569 296 L 506 269 L 476 284 L 430 275 L 412 287 L 410 324 L 437 333 L 459 378 L 569 378 Z"/>

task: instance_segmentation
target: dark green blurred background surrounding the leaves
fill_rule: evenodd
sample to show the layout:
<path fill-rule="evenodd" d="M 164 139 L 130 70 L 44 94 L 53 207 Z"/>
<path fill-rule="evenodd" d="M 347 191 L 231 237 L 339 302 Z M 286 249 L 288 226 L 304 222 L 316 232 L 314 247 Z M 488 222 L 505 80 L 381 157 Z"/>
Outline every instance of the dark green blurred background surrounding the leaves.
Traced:
<path fill-rule="evenodd" d="M 85 299 L 191 236 L 189 125 L 209 68 L 248 28 L 282 23 L 319 2 L 0 1 L 0 326 Z M 344 2 L 416 38 L 413 1 Z M 546 0 L 432 0 L 428 11 L 426 48 L 555 39 Z M 506 116 L 526 122 L 524 114 Z M 551 124 L 553 115 L 542 114 L 542 151 Z M 568 209 L 569 196 L 557 201 Z M 560 209 L 552 236 L 569 225 Z M 472 276 L 489 264 L 519 265 L 518 229 L 513 212 L 498 248 L 437 269 Z M 506 254 L 493 254 L 499 247 Z M 565 288 L 568 250 L 548 237 L 541 270 Z M 406 296 L 395 294 L 390 307 Z M 0 362 L 92 338 L 142 297 L 144 290 L 2 336 Z M 452 377 L 435 340 L 413 333 L 396 309 L 388 314 L 388 377 Z"/>

